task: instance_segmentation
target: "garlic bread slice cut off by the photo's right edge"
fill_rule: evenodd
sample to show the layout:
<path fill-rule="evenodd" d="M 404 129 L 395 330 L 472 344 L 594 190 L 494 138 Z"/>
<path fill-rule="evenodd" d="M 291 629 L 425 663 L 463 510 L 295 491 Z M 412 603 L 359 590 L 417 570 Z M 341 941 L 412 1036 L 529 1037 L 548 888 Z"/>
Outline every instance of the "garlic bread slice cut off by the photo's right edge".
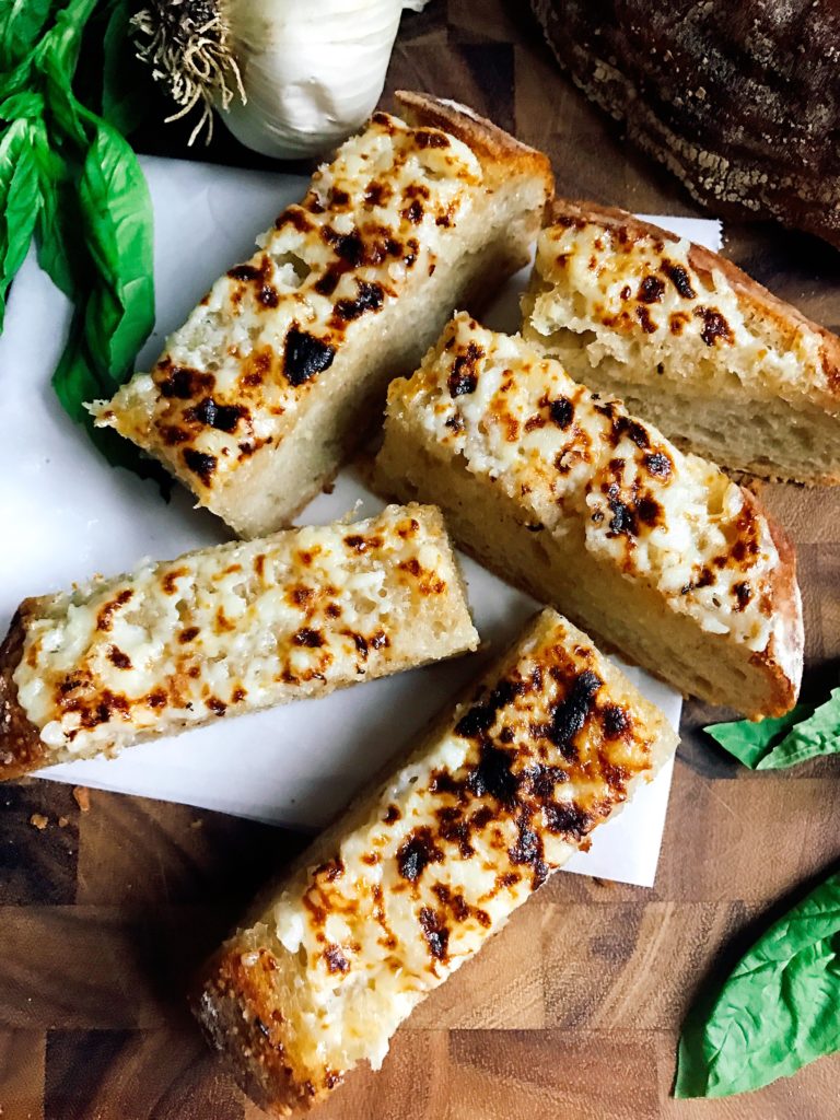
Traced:
<path fill-rule="evenodd" d="M 683 449 L 763 478 L 840 482 L 840 339 L 729 261 L 592 203 L 556 203 L 526 339 Z"/>

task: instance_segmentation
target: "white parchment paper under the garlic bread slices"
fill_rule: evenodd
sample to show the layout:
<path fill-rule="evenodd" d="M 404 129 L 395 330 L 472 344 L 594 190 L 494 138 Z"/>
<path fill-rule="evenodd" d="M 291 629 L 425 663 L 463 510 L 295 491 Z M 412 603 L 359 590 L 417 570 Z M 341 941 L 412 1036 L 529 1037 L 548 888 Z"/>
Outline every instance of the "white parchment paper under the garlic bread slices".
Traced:
<path fill-rule="evenodd" d="M 255 234 L 300 197 L 299 177 L 249 172 L 146 158 L 156 217 L 157 327 L 140 355 L 148 367 L 209 287 L 253 251 Z M 716 222 L 657 218 L 711 249 Z M 485 318 L 514 330 L 515 278 Z M 0 336 L 0 626 L 20 599 L 68 587 L 92 572 L 130 570 L 143 556 L 176 557 L 225 540 L 211 514 L 192 508 L 186 494 L 170 504 L 157 487 L 110 468 L 60 410 L 49 384 L 69 323 L 66 300 L 39 271 L 32 254 L 11 293 Z M 301 522 L 340 516 L 361 501 L 360 515 L 382 503 L 351 470 L 330 495 L 319 496 Z M 127 750 L 113 760 L 77 762 L 44 777 L 103 790 L 178 801 L 197 808 L 317 829 L 393 754 L 402 750 L 487 657 L 513 641 L 536 608 L 478 564 L 465 560 L 476 626 L 488 650 L 474 657 L 360 684 L 321 700 L 221 720 L 175 739 Z M 679 696 L 645 673 L 629 674 L 676 727 Z M 624 813 L 598 829 L 591 850 L 570 870 L 650 886 L 668 808 L 671 766 L 640 792 Z"/>

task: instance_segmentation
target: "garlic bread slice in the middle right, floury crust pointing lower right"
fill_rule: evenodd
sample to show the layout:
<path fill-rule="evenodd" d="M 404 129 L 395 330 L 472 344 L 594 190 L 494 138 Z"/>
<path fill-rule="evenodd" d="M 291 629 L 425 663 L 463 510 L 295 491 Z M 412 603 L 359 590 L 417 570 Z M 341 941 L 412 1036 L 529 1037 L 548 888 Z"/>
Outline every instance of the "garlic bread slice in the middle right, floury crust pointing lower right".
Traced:
<path fill-rule="evenodd" d="M 391 384 L 389 494 L 437 502 L 482 563 L 684 693 L 794 703 L 793 549 L 753 494 L 519 337 L 456 317 Z"/>

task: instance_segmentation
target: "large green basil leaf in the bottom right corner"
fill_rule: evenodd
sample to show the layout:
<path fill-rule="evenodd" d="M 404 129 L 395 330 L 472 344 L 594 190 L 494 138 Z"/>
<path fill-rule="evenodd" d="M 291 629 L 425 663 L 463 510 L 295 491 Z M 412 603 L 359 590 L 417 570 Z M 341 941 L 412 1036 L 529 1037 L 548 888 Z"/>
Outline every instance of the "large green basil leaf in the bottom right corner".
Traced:
<path fill-rule="evenodd" d="M 776 922 L 689 1014 L 674 1096 L 729 1096 L 840 1049 L 840 875 Z"/>

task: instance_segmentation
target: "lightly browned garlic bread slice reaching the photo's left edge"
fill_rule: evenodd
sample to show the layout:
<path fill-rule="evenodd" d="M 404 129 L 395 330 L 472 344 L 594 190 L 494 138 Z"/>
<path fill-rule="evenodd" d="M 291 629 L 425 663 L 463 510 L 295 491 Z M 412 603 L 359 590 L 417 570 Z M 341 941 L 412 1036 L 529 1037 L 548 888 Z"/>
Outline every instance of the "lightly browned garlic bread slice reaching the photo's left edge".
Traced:
<path fill-rule="evenodd" d="M 389 506 L 27 599 L 0 781 L 475 650 L 440 513 Z"/>

